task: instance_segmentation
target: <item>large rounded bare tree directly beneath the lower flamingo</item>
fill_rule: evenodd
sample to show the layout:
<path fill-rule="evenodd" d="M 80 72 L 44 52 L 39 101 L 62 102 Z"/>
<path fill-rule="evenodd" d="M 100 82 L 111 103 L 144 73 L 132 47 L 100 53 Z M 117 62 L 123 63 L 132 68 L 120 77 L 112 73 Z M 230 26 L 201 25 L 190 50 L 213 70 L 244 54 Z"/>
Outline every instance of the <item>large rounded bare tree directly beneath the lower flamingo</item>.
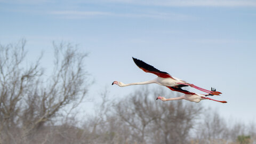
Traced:
<path fill-rule="evenodd" d="M 130 129 L 129 143 L 188 142 L 189 132 L 200 114 L 200 105 L 185 101 L 155 101 L 158 94 L 167 95 L 163 89 L 150 91 L 144 87 L 116 105 L 116 115 Z"/>

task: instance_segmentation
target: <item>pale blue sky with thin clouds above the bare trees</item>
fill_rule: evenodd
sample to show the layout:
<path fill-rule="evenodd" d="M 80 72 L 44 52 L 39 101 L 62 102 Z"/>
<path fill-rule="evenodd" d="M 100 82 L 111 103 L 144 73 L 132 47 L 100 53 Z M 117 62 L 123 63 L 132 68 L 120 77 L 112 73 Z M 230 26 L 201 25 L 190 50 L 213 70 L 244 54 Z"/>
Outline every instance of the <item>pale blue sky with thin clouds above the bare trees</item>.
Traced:
<path fill-rule="evenodd" d="M 155 78 L 135 66 L 135 57 L 197 86 L 216 87 L 223 94 L 215 99 L 228 103 L 205 100 L 205 107 L 255 121 L 256 1 L 0 0 L 0 20 L 0 43 L 25 38 L 31 60 L 45 51 L 46 68 L 53 41 L 90 52 L 90 97 L 107 87 L 122 98 L 140 86 L 110 86 L 113 81 Z"/>

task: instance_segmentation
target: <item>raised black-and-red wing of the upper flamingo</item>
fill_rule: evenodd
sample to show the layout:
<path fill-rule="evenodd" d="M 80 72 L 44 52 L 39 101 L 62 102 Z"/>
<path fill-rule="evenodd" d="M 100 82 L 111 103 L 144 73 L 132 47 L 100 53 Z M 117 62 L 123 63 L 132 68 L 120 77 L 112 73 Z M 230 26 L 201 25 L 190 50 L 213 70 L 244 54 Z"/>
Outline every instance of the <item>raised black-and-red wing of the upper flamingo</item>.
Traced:
<path fill-rule="evenodd" d="M 156 68 L 154 68 L 153 66 L 150 66 L 148 65 L 146 62 L 142 61 L 142 60 L 138 60 L 138 59 L 135 59 L 133 58 L 133 61 L 135 62 L 135 64 L 140 68 L 142 69 L 143 71 L 145 71 L 146 73 L 152 73 L 152 74 L 155 74 L 159 77 L 162 77 L 162 78 L 167 78 L 167 77 L 170 77 L 170 78 L 173 78 L 170 74 L 164 72 L 164 71 L 160 71 Z M 174 79 L 174 78 L 173 78 Z"/>

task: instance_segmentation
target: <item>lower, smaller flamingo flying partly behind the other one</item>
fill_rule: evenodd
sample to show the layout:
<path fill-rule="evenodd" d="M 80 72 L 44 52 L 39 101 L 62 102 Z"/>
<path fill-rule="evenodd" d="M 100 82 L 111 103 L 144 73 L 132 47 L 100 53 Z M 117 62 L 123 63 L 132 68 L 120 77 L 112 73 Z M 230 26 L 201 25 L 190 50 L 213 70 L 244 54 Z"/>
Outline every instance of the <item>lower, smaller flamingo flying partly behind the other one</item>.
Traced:
<path fill-rule="evenodd" d="M 216 91 L 216 90 L 212 89 L 212 91 Z M 185 94 L 185 95 L 182 95 L 180 97 L 170 98 L 170 99 L 166 99 L 164 97 L 158 96 L 156 98 L 156 100 L 160 99 L 162 101 L 169 101 L 169 100 L 182 100 L 182 99 L 185 99 L 185 100 L 192 101 L 192 102 L 200 102 L 201 100 L 209 99 L 209 100 L 213 100 L 213 101 L 227 103 L 227 101 L 219 101 L 219 100 L 214 100 L 214 99 L 211 99 L 211 98 L 207 98 L 207 96 L 209 96 L 209 95 L 213 95 L 213 94 L 205 95 L 205 94 L 191 93 L 191 94 Z"/>

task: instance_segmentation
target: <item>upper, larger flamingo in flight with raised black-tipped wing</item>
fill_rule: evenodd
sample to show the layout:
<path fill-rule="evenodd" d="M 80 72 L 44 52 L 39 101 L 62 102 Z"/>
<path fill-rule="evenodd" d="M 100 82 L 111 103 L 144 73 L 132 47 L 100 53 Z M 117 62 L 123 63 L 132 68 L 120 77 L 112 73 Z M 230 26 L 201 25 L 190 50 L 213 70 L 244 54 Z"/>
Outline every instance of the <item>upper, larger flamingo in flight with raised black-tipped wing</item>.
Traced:
<path fill-rule="evenodd" d="M 153 80 L 146 81 L 146 82 L 129 83 L 129 84 L 124 84 L 122 82 L 114 81 L 112 83 L 112 85 L 116 84 L 118 86 L 123 87 L 123 86 L 129 86 L 129 85 L 141 85 L 141 84 L 156 83 L 156 84 L 159 84 L 159 85 L 166 86 L 172 91 L 178 91 L 178 92 L 182 92 L 182 93 L 185 93 L 185 94 L 194 95 L 195 93 L 183 90 L 183 89 L 181 89 L 181 87 L 191 86 L 191 87 L 194 87 L 197 90 L 200 90 L 200 91 L 212 94 L 212 95 L 220 95 L 221 94 L 221 92 L 205 90 L 201 87 L 195 86 L 194 84 L 187 83 L 187 82 L 183 81 L 182 79 L 173 77 L 173 76 L 171 76 L 170 74 L 168 74 L 164 71 L 160 71 L 160 70 L 154 68 L 153 66 L 148 65 L 146 62 L 143 62 L 142 60 L 138 60 L 138 59 L 135 59 L 135 58 L 132 58 L 132 59 L 140 69 L 142 69 L 146 73 L 155 74 L 158 77 L 153 79 Z"/>

